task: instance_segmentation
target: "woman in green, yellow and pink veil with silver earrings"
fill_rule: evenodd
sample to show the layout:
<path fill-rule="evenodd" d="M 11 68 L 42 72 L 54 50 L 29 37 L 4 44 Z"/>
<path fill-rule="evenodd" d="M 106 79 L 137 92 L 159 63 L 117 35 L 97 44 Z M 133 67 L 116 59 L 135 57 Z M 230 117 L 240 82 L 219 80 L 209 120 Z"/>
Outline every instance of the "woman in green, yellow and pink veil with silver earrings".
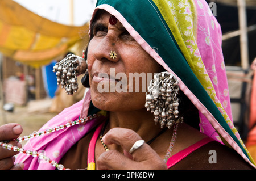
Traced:
<path fill-rule="evenodd" d="M 60 131 L 26 144 L 25 149 L 43 150 L 61 164 L 42 162 L 30 154 L 19 154 L 17 164 L 23 162 L 24 169 L 255 167 L 232 124 L 220 26 L 207 3 L 98 1 L 89 35 L 85 57 L 90 89 L 85 100 L 61 112 L 40 131 L 99 116 L 85 125 L 58 127 Z M 143 81 L 136 92 L 129 73 L 145 73 L 147 78 L 160 74 L 145 96 Z M 161 90 L 155 91 L 159 85 Z M 170 111 L 170 119 L 163 109 Z"/>

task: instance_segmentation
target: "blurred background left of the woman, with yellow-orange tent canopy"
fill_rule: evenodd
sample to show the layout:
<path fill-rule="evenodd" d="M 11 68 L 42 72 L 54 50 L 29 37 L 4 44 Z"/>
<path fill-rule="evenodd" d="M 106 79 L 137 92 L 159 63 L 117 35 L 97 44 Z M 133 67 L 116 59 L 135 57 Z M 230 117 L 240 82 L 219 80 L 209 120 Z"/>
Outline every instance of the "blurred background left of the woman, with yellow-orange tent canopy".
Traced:
<path fill-rule="evenodd" d="M 96 0 L 0 1 L 0 125 L 19 123 L 23 136 L 78 102 L 52 72 L 68 53 L 82 56 Z M 80 81 L 79 81 L 80 82 Z"/>

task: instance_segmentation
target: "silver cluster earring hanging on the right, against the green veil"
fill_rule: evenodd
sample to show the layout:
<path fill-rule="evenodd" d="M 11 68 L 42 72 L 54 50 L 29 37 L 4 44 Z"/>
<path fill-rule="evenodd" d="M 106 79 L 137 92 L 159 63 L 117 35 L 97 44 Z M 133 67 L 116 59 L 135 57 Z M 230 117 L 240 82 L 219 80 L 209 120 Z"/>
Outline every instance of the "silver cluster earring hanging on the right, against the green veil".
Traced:
<path fill-rule="evenodd" d="M 155 116 L 155 124 L 160 127 L 171 128 L 175 123 L 182 123 L 183 116 L 179 116 L 179 85 L 174 75 L 162 72 L 154 75 L 146 92 L 145 107 Z"/>

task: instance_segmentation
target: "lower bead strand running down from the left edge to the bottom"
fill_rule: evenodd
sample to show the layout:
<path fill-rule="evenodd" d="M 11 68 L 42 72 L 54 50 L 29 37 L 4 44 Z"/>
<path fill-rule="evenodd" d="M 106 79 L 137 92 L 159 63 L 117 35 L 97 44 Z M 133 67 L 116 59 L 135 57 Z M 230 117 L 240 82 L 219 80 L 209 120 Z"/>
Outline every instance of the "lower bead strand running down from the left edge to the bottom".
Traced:
<path fill-rule="evenodd" d="M 56 161 L 51 160 L 49 157 L 44 155 L 43 153 L 38 153 L 38 151 L 30 151 L 30 150 L 24 150 L 23 148 L 19 148 L 18 146 L 13 146 L 11 144 L 6 144 L 4 142 L 0 142 L 0 145 L 2 148 L 18 151 L 19 153 L 31 155 L 32 157 L 39 157 L 40 159 L 44 159 L 46 162 L 51 163 L 53 167 L 56 167 L 59 170 L 69 170 L 66 169 L 62 164 L 58 164 Z"/>

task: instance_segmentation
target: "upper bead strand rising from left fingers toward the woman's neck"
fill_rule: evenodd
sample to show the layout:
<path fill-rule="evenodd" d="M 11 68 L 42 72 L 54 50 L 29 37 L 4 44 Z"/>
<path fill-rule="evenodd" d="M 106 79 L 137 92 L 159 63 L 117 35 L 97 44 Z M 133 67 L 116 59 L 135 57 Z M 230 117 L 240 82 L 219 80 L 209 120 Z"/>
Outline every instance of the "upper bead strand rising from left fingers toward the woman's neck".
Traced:
<path fill-rule="evenodd" d="M 18 142 L 27 141 L 27 140 L 30 140 L 31 138 L 34 138 L 34 137 L 38 137 L 38 136 L 42 136 L 44 134 L 48 134 L 48 133 L 52 133 L 52 132 L 55 132 L 55 131 L 59 131 L 60 129 L 68 128 L 68 127 L 71 127 L 71 126 L 79 124 L 79 123 L 84 123 L 84 121 L 86 122 L 86 121 L 94 119 L 96 117 L 97 117 L 96 114 L 94 114 L 93 116 L 90 115 L 88 117 L 81 118 L 81 119 L 76 120 L 76 121 L 70 121 L 70 122 L 68 122 L 68 123 L 66 123 L 64 125 L 61 124 L 61 125 L 59 125 L 59 126 L 57 126 L 55 128 L 50 128 L 50 129 L 46 129 L 45 131 L 32 133 L 29 136 L 19 137 L 19 138 L 16 139 L 16 141 L 18 141 Z"/>

